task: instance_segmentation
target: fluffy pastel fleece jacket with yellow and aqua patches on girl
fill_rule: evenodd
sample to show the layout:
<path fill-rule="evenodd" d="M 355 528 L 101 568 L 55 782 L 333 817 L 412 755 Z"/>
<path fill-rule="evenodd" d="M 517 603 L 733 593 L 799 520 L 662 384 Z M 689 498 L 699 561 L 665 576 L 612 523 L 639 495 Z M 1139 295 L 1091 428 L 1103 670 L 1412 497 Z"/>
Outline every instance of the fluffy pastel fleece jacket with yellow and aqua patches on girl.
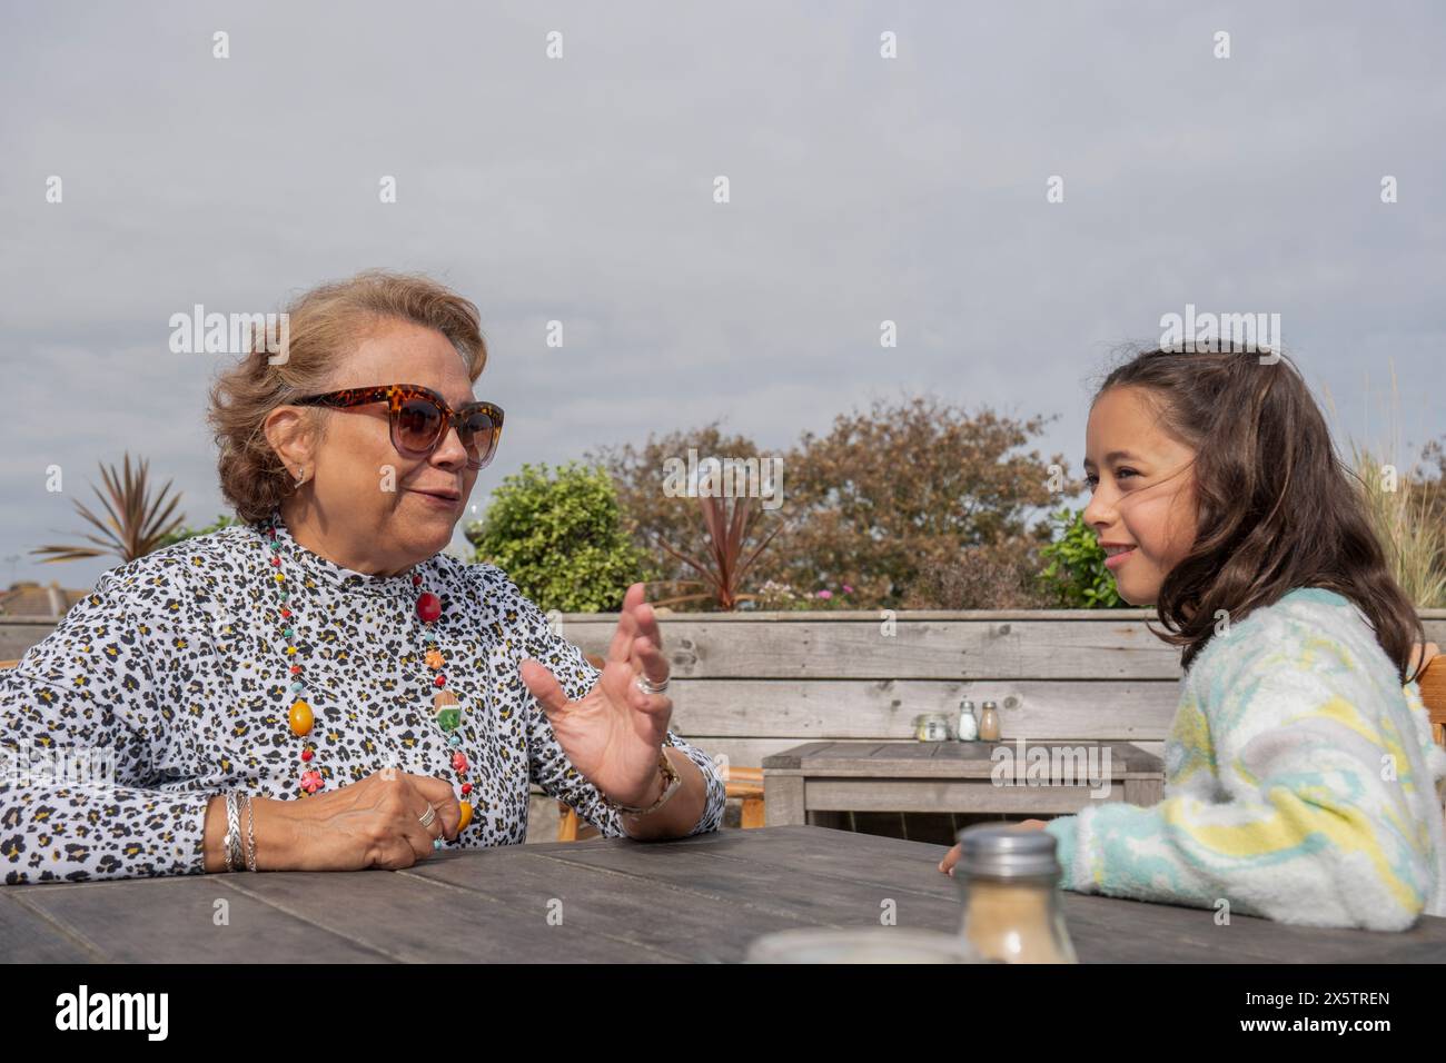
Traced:
<path fill-rule="evenodd" d="M 1322 927 L 1446 915 L 1446 751 L 1340 594 L 1296 589 L 1215 635 L 1164 754 L 1160 804 L 1045 826 L 1066 889 Z"/>

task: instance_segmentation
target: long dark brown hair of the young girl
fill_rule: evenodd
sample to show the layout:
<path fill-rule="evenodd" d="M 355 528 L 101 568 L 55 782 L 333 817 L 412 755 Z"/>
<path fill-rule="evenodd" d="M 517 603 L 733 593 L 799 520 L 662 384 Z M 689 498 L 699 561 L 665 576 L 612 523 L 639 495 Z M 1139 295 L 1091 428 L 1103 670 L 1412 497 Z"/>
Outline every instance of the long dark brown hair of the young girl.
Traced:
<path fill-rule="evenodd" d="M 1167 631 L 1155 633 L 1184 648 L 1189 668 L 1218 610 L 1239 623 L 1296 587 L 1325 587 L 1361 607 L 1401 681 L 1416 678 L 1420 668 L 1407 677 L 1413 644 L 1426 635 L 1387 570 L 1359 480 L 1300 372 L 1271 357 L 1151 350 L 1111 372 L 1095 396 L 1145 389 L 1160 427 L 1196 451 L 1196 541 L 1160 587 Z"/>

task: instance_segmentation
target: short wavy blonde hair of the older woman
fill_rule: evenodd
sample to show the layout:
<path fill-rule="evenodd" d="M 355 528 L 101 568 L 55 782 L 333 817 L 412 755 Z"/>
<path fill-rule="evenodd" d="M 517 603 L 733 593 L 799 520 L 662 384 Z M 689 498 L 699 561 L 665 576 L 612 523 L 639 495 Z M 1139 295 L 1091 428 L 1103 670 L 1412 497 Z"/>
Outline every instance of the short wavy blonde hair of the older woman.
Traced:
<path fill-rule="evenodd" d="M 221 495 L 246 522 L 268 516 L 295 486 L 262 431 L 266 417 L 302 395 L 328 390 L 340 366 L 377 325 L 392 320 L 435 328 L 457 349 L 471 380 L 487 363 L 477 307 L 427 276 L 369 269 L 312 288 L 285 312 L 285 351 L 275 350 L 275 331 L 268 336 L 257 327 L 250 350 L 211 386 L 207 421 L 220 447 Z M 307 409 L 317 432 L 324 412 Z"/>

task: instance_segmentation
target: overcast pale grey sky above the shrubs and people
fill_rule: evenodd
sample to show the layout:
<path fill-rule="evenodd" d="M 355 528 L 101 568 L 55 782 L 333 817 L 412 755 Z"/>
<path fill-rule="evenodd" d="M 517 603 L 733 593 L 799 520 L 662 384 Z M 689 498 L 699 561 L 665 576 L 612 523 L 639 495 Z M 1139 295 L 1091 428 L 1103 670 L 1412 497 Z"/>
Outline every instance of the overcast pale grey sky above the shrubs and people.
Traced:
<path fill-rule="evenodd" d="M 1403 441 L 1446 434 L 1436 3 L 3 10 L 3 586 L 116 564 L 27 554 L 126 448 L 221 512 L 221 359 L 172 314 L 369 266 L 482 308 L 479 506 L 523 461 L 714 418 L 784 448 L 904 392 L 1057 415 L 1077 470 L 1087 380 L 1186 304 L 1278 312 L 1340 428 L 1377 435 L 1394 362 Z"/>

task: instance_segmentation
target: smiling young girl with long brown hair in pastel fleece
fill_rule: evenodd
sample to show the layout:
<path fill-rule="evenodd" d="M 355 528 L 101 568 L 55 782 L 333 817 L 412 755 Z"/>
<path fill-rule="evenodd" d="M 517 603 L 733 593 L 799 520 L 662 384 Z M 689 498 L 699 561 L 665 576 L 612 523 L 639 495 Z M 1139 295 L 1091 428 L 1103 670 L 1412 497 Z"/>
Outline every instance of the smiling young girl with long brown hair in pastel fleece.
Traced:
<path fill-rule="evenodd" d="M 1084 471 L 1121 597 L 1186 673 L 1160 804 L 1031 821 L 1061 885 L 1309 926 L 1446 915 L 1420 619 L 1294 366 L 1135 357 L 1095 396 Z"/>

